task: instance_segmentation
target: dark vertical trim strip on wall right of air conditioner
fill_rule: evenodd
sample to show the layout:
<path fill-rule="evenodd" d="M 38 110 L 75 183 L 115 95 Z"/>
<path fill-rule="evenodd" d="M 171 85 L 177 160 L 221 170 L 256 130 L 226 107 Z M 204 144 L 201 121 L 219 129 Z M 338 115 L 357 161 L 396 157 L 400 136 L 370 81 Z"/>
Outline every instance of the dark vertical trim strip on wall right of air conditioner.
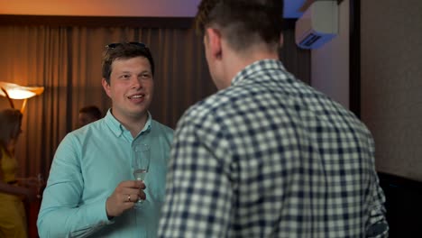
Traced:
<path fill-rule="evenodd" d="M 349 106 L 361 118 L 361 0 L 350 0 Z"/>

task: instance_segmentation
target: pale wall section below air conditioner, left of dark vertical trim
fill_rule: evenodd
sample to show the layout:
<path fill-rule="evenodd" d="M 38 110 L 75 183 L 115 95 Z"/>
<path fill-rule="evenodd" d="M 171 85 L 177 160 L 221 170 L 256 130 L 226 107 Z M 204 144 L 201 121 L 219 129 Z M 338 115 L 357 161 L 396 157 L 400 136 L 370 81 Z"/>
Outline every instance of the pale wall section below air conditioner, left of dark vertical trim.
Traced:
<path fill-rule="evenodd" d="M 311 85 L 349 107 L 349 0 L 339 5 L 339 33 L 311 52 Z"/>

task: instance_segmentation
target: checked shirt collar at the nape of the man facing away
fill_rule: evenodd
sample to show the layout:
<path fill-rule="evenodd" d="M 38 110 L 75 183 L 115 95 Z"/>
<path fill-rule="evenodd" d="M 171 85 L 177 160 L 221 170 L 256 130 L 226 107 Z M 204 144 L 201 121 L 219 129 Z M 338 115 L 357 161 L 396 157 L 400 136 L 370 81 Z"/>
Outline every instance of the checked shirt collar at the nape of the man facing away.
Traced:
<path fill-rule="evenodd" d="M 260 73 L 265 70 L 283 70 L 283 64 L 279 59 L 261 59 L 258 61 L 253 62 L 252 64 L 246 66 L 244 69 L 239 71 L 236 76 L 232 80 L 232 86 L 238 84 L 239 82 L 243 81 L 245 78 L 251 78 L 253 75 Z"/>

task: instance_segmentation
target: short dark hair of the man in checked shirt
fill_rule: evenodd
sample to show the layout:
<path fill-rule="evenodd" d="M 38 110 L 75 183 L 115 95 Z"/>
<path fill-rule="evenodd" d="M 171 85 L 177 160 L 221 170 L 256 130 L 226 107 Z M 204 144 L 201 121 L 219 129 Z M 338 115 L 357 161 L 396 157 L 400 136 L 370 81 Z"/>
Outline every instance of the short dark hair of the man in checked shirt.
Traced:
<path fill-rule="evenodd" d="M 202 0 L 195 17 L 195 28 L 204 34 L 216 25 L 234 50 L 257 42 L 278 44 L 283 24 L 283 0 Z"/>

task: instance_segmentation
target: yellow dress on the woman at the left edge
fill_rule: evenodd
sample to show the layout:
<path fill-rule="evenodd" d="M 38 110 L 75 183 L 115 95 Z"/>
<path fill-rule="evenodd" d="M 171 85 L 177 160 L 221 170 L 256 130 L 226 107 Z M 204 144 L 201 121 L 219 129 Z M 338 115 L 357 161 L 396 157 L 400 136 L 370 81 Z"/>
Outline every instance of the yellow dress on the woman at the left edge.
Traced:
<path fill-rule="evenodd" d="M 1 150 L 3 182 L 15 180 L 17 161 Z M 26 215 L 21 197 L 0 193 L 0 237 L 26 238 Z"/>

